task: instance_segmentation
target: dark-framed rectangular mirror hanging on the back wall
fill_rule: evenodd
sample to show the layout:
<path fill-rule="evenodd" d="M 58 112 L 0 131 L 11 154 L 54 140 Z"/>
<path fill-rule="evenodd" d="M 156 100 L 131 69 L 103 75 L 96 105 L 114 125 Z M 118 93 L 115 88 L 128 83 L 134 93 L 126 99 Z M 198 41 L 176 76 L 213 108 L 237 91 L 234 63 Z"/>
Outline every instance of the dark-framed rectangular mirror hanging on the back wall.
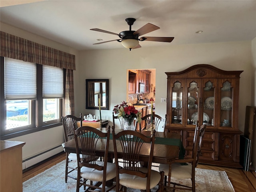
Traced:
<path fill-rule="evenodd" d="M 109 110 L 108 79 L 86 79 L 86 109 Z"/>

